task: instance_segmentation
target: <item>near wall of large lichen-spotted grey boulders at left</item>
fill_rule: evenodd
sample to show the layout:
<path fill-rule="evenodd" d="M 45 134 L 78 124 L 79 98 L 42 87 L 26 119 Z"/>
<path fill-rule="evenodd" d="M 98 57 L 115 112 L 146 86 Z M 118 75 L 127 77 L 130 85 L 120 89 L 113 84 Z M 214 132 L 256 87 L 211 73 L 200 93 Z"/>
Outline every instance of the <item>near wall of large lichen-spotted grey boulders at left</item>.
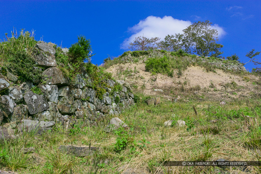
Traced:
<path fill-rule="evenodd" d="M 102 99 L 98 99 L 87 72 L 78 74 L 72 82 L 57 68 L 55 49 L 51 43 L 39 42 L 35 49 L 38 51 L 34 56 L 35 63 L 44 69 L 41 80 L 45 83 L 35 79 L 18 85 L 11 70 L 0 74 L 0 123 L 31 119 L 64 125 L 91 124 L 104 115 L 118 115 L 134 105 L 129 83 L 118 81 L 122 91 L 111 92 L 115 81 L 106 79 L 108 87 Z M 33 93 L 34 86 L 43 94 Z"/>

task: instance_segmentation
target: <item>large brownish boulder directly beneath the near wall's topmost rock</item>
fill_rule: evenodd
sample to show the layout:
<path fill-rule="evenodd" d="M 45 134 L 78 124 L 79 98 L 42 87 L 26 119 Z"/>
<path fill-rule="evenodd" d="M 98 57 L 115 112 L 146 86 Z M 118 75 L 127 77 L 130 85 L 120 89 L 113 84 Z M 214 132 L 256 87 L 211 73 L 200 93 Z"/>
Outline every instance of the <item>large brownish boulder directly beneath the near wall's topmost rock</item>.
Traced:
<path fill-rule="evenodd" d="M 34 60 L 39 67 L 49 68 L 57 66 L 55 56 L 48 52 L 37 51 L 34 54 Z"/>

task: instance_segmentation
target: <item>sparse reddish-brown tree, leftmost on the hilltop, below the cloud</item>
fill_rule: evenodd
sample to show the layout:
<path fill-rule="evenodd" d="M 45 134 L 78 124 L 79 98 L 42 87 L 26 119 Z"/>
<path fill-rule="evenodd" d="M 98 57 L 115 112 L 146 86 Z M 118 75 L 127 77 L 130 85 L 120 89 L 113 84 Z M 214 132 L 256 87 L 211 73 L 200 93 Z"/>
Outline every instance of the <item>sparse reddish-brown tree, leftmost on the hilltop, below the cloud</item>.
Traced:
<path fill-rule="evenodd" d="M 137 38 L 135 38 L 135 40 L 133 41 L 133 43 L 129 43 L 129 49 L 131 49 L 132 51 L 144 51 L 144 50 L 153 50 L 153 49 L 157 49 L 157 41 L 159 41 L 160 38 L 155 37 L 155 38 L 146 38 L 144 36 L 139 36 Z"/>

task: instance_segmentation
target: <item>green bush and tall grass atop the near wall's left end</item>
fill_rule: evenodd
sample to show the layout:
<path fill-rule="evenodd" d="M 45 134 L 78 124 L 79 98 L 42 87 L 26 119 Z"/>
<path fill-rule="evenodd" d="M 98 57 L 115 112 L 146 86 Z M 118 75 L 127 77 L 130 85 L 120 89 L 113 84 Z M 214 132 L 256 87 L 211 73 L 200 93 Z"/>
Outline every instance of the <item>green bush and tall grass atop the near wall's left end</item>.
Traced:
<path fill-rule="evenodd" d="M 37 43 L 34 40 L 33 33 L 21 30 L 17 37 L 13 33 L 13 37 L 0 43 L 0 61 L 1 66 L 12 70 L 12 72 L 19 76 L 20 81 L 33 81 L 39 79 L 41 70 L 35 64 L 33 59 L 33 48 Z"/>

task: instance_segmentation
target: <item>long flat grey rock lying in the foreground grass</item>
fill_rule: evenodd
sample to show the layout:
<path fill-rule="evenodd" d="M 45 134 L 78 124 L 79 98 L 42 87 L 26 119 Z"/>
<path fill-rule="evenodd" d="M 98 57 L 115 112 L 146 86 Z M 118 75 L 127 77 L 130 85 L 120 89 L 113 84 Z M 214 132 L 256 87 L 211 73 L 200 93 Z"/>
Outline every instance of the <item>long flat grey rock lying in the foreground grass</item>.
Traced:
<path fill-rule="evenodd" d="M 71 154 L 75 157 L 86 157 L 93 155 L 94 152 L 98 152 L 99 148 L 89 146 L 70 146 L 70 145 L 61 145 L 58 148 L 61 152 L 65 154 Z"/>

